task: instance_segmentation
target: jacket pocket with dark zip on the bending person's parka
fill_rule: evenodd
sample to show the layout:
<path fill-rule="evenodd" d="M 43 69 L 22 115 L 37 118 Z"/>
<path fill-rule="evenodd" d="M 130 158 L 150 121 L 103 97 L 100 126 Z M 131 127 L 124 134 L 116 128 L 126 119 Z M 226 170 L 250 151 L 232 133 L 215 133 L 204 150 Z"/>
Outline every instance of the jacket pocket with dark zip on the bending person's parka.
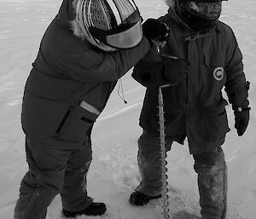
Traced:
<path fill-rule="evenodd" d="M 85 141 L 86 132 L 92 127 L 98 114 L 75 105 L 70 107 L 56 130 L 56 137 L 65 140 Z"/>

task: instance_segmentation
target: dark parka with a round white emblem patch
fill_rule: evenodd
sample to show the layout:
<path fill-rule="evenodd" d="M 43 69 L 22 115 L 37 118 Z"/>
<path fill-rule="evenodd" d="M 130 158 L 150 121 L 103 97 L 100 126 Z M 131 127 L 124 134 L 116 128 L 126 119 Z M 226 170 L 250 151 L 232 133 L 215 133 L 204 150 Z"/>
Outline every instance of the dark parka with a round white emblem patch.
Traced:
<path fill-rule="evenodd" d="M 182 74 L 182 82 L 163 89 L 166 135 L 181 144 L 188 137 L 190 153 L 215 150 L 223 144 L 225 134 L 230 130 L 225 112 L 228 102 L 222 90 L 227 91 L 233 107 L 248 105 L 242 56 L 236 37 L 221 21 L 211 30 L 190 32 L 172 8 L 160 20 L 170 27 L 171 33 L 161 53 L 177 56 L 187 64 L 177 68 L 175 61 L 170 60 L 169 66 L 161 66 L 159 60 L 163 58 L 151 49 L 135 66 L 132 75 L 145 85 L 143 78 L 148 78 L 145 77 L 147 74 L 154 77 L 162 72 L 166 75 Z M 154 61 L 157 61 L 156 65 L 152 64 Z M 159 135 L 158 87 L 152 84 L 146 90 L 140 125 L 152 135 Z"/>

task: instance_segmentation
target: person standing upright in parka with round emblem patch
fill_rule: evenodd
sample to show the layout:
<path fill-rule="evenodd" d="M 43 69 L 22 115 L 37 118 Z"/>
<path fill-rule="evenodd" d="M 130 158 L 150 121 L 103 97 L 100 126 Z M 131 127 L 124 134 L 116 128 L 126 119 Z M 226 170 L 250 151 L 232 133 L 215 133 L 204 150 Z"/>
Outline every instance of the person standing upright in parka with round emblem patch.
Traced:
<path fill-rule="evenodd" d="M 170 37 L 160 49 L 162 55 L 151 48 L 132 73 L 148 89 L 140 116 L 143 135 L 138 140 L 142 182 L 131 193 L 130 202 L 145 205 L 150 199 L 161 196 L 158 87 L 155 86 L 159 84 L 155 84 L 155 78 L 162 72 L 178 71 L 184 79 L 163 89 L 166 151 L 171 150 L 172 141 L 183 144 L 188 138 L 189 152 L 195 159 L 198 174 L 201 216 L 224 219 L 227 167 L 221 146 L 230 128 L 225 112 L 228 102 L 222 89 L 232 104 L 235 128 L 241 136 L 247 129 L 250 110 L 249 83 L 243 72 L 241 51 L 230 26 L 218 20 L 222 1 L 166 2 L 169 3 L 168 13 L 159 20 L 169 26 Z M 169 58 L 165 58 L 168 55 Z M 175 65 L 178 67 L 173 67 Z"/>

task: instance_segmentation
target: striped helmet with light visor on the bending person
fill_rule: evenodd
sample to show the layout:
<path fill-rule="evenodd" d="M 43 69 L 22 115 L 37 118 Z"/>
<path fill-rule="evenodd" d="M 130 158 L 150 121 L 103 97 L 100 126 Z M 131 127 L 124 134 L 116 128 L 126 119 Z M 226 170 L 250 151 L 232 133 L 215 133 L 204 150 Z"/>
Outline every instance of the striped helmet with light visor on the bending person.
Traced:
<path fill-rule="evenodd" d="M 133 0 L 79 0 L 76 20 L 84 38 L 105 51 L 133 48 L 143 38 L 141 15 Z"/>

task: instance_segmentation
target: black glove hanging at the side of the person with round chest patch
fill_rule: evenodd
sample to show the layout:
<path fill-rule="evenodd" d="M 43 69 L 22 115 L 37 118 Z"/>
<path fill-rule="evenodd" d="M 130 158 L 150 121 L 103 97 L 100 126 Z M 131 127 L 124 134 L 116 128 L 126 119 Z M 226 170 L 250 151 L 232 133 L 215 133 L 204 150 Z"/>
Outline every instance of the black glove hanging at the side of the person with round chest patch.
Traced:
<path fill-rule="evenodd" d="M 244 134 L 245 130 L 247 130 L 247 125 L 249 123 L 250 118 L 250 107 L 241 108 L 238 107 L 238 110 L 234 112 L 235 114 L 235 128 L 237 130 L 238 136 Z"/>

